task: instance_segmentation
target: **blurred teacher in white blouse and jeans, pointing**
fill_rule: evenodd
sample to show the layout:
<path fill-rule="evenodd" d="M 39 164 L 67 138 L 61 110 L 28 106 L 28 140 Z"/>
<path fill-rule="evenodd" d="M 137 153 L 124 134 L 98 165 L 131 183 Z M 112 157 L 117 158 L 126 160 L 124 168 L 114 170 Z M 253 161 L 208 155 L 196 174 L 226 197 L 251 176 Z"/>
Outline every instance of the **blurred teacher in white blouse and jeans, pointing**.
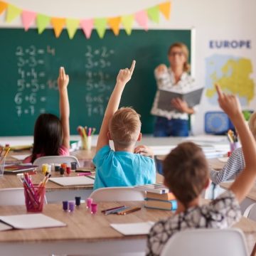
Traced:
<path fill-rule="evenodd" d="M 195 82 L 188 71 L 188 48 L 183 43 L 174 43 L 168 51 L 170 67 L 161 64 L 154 70 L 158 89 L 172 92 L 186 93 L 195 87 Z M 186 101 L 180 98 L 170 100 L 175 110 L 160 110 L 158 108 L 159 90 L 154 98 L 151 114 L 156 116 L 154 127 L 155 137 L 182 136 L 187 137 L 189 132 L 188 114 L 193 114 L 193 108 L 188 107 Z"/>

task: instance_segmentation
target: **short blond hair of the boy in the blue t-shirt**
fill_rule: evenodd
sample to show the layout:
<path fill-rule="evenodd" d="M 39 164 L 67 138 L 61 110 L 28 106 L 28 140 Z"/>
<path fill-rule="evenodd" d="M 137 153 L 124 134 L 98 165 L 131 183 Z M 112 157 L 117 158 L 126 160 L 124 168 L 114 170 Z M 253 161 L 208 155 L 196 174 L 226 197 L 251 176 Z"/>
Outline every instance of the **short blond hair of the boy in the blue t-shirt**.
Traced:
<path fill-rule="evenodd" d="M 115 146 L 130 146 L 137 142 L 142 127 L 140 115 L 132 107 L 121 107 L 110 120 L 110 135 Z"/>

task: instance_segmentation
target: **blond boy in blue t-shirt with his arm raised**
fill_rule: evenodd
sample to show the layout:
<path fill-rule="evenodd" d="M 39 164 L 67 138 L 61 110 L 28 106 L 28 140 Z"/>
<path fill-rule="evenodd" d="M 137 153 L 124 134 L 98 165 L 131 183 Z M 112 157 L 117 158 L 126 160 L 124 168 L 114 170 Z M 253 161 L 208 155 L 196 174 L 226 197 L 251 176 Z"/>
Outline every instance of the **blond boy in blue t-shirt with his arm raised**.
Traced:
<path fill-rule="evenodd" d="M 132 78 L 135 60 L 130 69 L 119 70 L 117 83 L 105 111 L 97 140 L 94 189 L 110 186 L 136 186 L 155 183 L 153 152 L 147 146 L 137 146 L 142 139 L 139 114 L 130 107 L 119 107 L 124 86 Z M 109 141 L 113 140 L 114 149 Z"/>

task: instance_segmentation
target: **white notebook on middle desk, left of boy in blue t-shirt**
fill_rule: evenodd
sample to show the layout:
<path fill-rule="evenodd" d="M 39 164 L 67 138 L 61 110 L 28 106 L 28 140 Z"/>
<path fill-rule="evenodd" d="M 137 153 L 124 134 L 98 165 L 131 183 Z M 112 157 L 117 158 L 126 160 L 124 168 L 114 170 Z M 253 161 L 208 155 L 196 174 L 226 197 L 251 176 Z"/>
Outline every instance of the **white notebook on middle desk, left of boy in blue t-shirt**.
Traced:
<path fill-rule="evenodd" d="M 49 181 L 57 183 L 60 186 L 93 185 L 95 182 L 94 179 L 86 176 L 49 178 Z"/>

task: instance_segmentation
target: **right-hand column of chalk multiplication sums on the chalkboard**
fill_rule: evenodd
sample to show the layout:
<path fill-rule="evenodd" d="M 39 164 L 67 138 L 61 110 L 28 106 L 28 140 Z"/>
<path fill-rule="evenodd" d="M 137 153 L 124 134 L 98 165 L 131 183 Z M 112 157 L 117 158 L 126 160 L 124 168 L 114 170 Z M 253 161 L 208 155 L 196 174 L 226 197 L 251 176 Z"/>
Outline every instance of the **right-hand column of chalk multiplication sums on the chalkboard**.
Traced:
<path fill-rule="evenodd" d="M 101 48 L 87 46 L 86 48 L 85 105 L 89 117 L 93 115 L 104 115 L 105 106 L 109 100 L 109 96 L 106 95 L 110 95 L 112 90 L 112 87 L 107 82 L 110 80 L 108 70 L 110 70 L 112 64 L 112 55 L 114 55 L 114 50 L 105 46 Z"/>

